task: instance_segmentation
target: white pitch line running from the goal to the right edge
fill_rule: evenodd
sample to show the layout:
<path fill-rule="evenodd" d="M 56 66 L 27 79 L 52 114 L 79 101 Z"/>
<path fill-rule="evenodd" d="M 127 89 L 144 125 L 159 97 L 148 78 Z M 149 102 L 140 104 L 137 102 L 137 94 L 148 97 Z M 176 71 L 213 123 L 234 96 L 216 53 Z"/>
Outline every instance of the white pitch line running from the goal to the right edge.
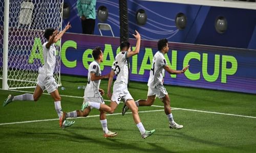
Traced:
<path fill-rule="evenodd" d="M 25 92 L 25 93 L 33 93 L 31 91 L 20 91 L 20 90 L 10 90 L 10 91 L 15 91 L 15 92 Z M 49 93 L 43 93 L 50 95 Z M 80 96 L 70 96 L 70 95 L 60 95 L 62 97 L 73 97 L 73 98 L 83 98 Z M 110 101 L 110 100 L 104 100 L 104 101 Z M 160 107 L 163 108 L 163 106 L 157 106 L 157 105 L 152 105 L 153 107 Z M 246 115 L 237 115 L 237 114 L 228 114 L 228 113 L 219 113 L 219 112 L 211 112 L 211 111 L 200 111 L 200 110 L 192 110 L 192 109 L 183 109 L 183 108 L 174 108 L 172 107 L 172 110 L 184 110 L 184 111 L 193 111 L 193 112 L 201 112 L 201 113 L 210 113 L 210 114 L 219 114 L 219 115 L 229 115 L 229 116 L 237 116 L 237 117 L 246 117 L 246 118 L 256 118 L 255 116 L 246 116 Z M 1 124 L 0 124 L 1 125 Z"/>

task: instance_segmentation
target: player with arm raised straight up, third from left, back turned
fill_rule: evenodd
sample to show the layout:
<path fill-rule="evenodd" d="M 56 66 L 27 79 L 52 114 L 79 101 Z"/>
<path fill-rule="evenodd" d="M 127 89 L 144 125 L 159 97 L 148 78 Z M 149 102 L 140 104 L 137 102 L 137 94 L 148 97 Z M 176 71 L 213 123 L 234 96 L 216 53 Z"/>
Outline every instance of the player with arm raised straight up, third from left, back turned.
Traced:
<path fill-rule="evenodd" d="M 133 34 L 134 35 L 134 34 Z M 110 72 L 109 83 L 108 83 L 108 97 L 111 98 L 110 106 L 100 103 L 93 103 L 87 101 L 83 103 L 82 110 L 88 106 L 97 108 L 98 110 L 105 111 L 108 113 L 113 113 L 121 100 L 124 100 L 124 103 L 130 108 L 133 114 L 133 119 L 141 133 L 143 139 L 151 136 L 155 130 L 146 131 L 143 124 L 140 121 L 138 114 L 138 107 L 134 103 L 134 99 L 130 92 L 127 89 L 128 83 L 128 64 L 127 58 L 137 55 L 140 49 L 140 34 L 136 31 L 134 37 L 137 39 L 136 49 L 132 52 L 129 42 L 122 42 L 120 44 L 120 53 L 116 55 L 115 61 Z M 111 93 L 111 86 L 113 82 L 114 75 L 116 74 L 117 78 L 113 87 L 113 95 Z"/>

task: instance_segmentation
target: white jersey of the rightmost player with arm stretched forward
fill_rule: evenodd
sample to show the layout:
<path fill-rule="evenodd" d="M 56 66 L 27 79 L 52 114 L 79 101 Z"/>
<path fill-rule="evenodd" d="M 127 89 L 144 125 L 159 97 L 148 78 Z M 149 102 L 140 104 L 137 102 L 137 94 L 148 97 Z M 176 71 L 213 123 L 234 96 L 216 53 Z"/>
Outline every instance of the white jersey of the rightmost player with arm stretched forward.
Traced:
<path fill-rule="evenodd" d="M 148 79 L 147 86 L 151 88 L 155 88 L 159 84 L 163 84 L 163 74 L 164 74 L 164 66 L 167 65 L 167 62 L 164 58 L 164 54 L 158 51 L 154 58 L 150 71 L 150 78 Z"/>

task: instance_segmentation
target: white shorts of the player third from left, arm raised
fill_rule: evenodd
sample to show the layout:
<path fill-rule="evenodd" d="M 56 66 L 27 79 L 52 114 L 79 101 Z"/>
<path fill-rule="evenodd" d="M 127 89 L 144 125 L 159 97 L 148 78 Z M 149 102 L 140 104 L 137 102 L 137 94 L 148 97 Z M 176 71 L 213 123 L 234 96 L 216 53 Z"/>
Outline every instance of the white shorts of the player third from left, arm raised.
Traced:
<path fill-rule="evenodd" d="M 121 100 L 125 103 L 127 100 L 133 100 L 133 97 L 125 84 L 114 84 L 111 100 L 119 105 Z"/>

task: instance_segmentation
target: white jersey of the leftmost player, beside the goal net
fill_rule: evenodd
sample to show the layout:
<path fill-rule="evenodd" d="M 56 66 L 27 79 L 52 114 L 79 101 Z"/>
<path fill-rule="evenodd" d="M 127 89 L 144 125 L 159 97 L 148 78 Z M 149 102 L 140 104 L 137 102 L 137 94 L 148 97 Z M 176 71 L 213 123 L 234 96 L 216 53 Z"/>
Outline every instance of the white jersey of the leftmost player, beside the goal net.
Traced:
<path fill-rule="evenodd" d="M 45 42 L 43 45 L 42 45 L 42 54 L 44 55 L 44 61 L 45 61 L 45 64 L 44 66 L 42 66 L 45 74 L 47 76 L 51 76 L 53 75 L 53 72 L 54 72 L 54 68 L 55 68 L 55 63 L 56 63 L 56 47 L 54 46 L 54 44 L 52 44 L 50 46 L 50 48 L 47 48 L 46 47 L 46 44 L 48 42 Z"/>

